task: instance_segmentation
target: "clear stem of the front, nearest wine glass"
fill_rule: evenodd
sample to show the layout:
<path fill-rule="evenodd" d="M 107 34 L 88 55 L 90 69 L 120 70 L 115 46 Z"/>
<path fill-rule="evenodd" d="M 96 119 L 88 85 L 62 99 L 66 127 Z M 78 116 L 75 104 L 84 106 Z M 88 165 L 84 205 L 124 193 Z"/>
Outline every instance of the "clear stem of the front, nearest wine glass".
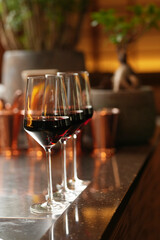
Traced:
<path fill-rule="evenodd" d="M 46 148 L 46 160 L 47 160 L 47 178 L 48 178 L 48 199 L 47 205 L 52 205 L 53 189 L 52 189 L 52 168 L 51 168 L 51 148 Z"/>

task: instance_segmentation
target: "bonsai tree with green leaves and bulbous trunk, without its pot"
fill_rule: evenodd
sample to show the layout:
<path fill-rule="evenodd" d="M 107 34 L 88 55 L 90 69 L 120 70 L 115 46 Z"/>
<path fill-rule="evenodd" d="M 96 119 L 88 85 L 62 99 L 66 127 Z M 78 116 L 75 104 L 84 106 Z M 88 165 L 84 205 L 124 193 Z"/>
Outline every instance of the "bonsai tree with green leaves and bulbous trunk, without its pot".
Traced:
<path fill-rule="evenodd" d="M 128 49 L 151 28 L 159 28 L 160 7 L 154 4 L 127 7 L 123 14 L 115 9 L 92 13 L 92 26 L 103 26 L 109 40 L 116 46 L 120 67 L 115 71 L 113 90 L 134 89 L 139 86 L 138 78 L 128 63 Z"/>

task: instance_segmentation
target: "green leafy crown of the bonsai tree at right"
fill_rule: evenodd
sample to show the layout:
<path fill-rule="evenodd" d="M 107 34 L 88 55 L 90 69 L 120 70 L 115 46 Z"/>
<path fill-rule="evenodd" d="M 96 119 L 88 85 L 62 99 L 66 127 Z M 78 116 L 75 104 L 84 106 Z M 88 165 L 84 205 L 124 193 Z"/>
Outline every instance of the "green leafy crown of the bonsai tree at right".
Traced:
<path fill-rule="evenodd" d="M 134 5 L 127 7 L 123 15 L 115 9 L 100 10 L 92 13 L 92 19 L 92 26 L 102 25 L 117 48 L 126 48 L 151 28 L 159 28 L 160 7 Z"/>

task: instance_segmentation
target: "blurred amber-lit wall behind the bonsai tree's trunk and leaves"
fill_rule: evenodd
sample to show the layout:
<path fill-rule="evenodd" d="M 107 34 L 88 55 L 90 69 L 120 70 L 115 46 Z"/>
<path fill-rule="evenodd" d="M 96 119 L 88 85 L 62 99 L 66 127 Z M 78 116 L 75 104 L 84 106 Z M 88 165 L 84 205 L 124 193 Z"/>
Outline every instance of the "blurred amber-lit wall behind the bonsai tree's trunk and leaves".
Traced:
<path fill-rule="evenodd" d="M 127 5 L 155 3 L 159 0 L 94 0 L 90 1 L 85 13 L 76 49 L 84 52 L 86 68 L 89 72 L 113 72 L 118 66 L 115 46 L 106 38 L 101 27 L 91 27 L 90 14 L 99 9 L 115 8 L 123 12 Z M 132 45 L 129 61 L 138 73 L 158 73 L 160 68 L 160 31 L 151 29 Z M 0 44 L 0 64 L 4 49 Z"/>

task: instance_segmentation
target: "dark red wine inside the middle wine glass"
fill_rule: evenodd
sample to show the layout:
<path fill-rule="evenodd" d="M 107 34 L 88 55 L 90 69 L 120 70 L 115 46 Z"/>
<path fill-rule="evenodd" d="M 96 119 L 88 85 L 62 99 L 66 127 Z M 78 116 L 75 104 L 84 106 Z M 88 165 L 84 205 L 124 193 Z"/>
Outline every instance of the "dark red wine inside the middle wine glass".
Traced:
<path fill-rule="evenodd" d="M 71 126 L 66 132 L 64 137 L 70 137 L 75 131 L 77 131 L 84 122 L 83 110 L 76 110 L 70 114 Z"/>

